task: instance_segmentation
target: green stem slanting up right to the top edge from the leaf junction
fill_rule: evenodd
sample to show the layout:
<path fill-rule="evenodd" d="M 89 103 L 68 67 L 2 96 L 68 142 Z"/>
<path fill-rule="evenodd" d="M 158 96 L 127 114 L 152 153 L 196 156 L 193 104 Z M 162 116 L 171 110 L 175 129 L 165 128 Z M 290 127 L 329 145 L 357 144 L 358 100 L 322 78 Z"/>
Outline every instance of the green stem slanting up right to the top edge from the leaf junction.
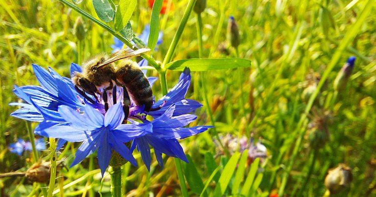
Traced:
<path fill-rule="evenodd" d="M 175 36 L 172 39 L 170 46 L 168 47 L 166 56 L 164 56 L 164 60 L 163 60 L 163 63 L 162 63 L 163 69 L 164 69 L 164 66 L 167 63 L 171 62 L 172 55 L 175 52 L 176 45 L 178 44 L 180 37 L 183 34 L 184 28 L 186 27 L 186 24 L 188 22 L 189 15 L 192 12 L 195 3 L 196 3 L 196 0 L 189 0 L 189 2 L 188 2 L 188 5 L 187 5 L 187 8 L 184 12 L 182 21 L 180 21 L 178 30 L 176 31 Z"/>

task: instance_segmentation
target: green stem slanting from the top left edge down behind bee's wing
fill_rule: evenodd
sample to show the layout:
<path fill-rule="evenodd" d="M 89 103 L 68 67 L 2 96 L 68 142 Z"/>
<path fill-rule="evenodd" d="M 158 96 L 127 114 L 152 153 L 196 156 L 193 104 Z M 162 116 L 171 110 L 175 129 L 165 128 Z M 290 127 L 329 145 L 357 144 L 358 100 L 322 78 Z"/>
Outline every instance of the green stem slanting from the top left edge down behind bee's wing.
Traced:
<path fill-rule="evenodd" d="M 124 44 L 126 44 L 130 48 L 132 48 L 134 50 L 137 49 L 137 47 L 134 46 L 129 40 L 127 40 L 126 38 L 124 38 L 124 36 L 122 36 L 121 34 L 119 34 L 118 32 L 116 32 L 115 30 L 113 30 L 111 27 L 109 27 L 105 23 L 103 23 L 103 22 L 95 19 L 92 15 L 90 15 L 89 13 L 87 13 L 84 10 L 80 9 L 79 7 L 77 7 L 76 5 L 74 5 L 73 3 L 71 3 L 69 0 L 59 0 L 59 1 L 62 2 L 63 4 L 65 4 L 65 5 L 67 5 L 68 7 L 72 8 L 73 10 L 75 10 L 76 12 L 78 12 L 79 14 L 81 14 L 82 16 L 86 17 L 90 21 L 95 22 L 96 24 L 98 24 L 99 26 L 101 26 L 103 29 L 107 30 L 112 35 L 114 35 L 115 37 L 117 37 L 121 42 L 123 42 Z M 144 58 L 148 63 L 150 63 L 155 68 L 157 68 L 157 69 L 159 68 L 159 64 L 150 55 L 143 54 L 143 55 L 141 55 L 141 57 Z"/>

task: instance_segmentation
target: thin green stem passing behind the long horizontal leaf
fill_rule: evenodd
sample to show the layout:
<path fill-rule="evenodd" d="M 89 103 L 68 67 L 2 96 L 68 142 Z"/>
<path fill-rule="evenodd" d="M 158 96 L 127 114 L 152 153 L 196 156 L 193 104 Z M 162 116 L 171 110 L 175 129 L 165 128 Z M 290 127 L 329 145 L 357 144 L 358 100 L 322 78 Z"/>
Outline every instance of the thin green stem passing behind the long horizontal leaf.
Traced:
<path fill-rule="evenodd" d="M 197 28 L 197 41 L 198 41 L 198 57 L 199 58 L 203 58 L 203 44 L 202 44 L 202 19 L 201 19 L 201 13 L 197 14 L 197 22 L 196 22 L 196 28 Z M 198 72 L 196 72 L 198 73 Z M 204 99 L 204 103 L 205 103 L 205 109 L 206 109 L 206 112 L 208 113 L 209 115 L 209 118 L 210 118 L 210 122 L 211 122 L 211 125 L 213 126 L 212 130 L 214 131 L 214 136 L 215 138 L 217 139 L 219 145 L 221 146 L 221 148 L 223 150 L 225 150 L 226 153 L 228 153 L 228 150 L 225 149 L 225 147 L 223 146 L 219 136 L 218 136 L 218 132 L 217 130 L 215 129 L 215 121 L 214 121 L 214 117 L 213 117 L 213 114 L 211 112 L 211 109 L 210 109 L 210 105 L 209 105 L 209 99 L 208 99 L 208 94 L 207 94 L 207 89 L 206 89 L 206 83 L 204 83 L 204 80 L 205 80 L 205 71 L 200 73 L 200 74 L 197 74 L 196 77 L 200 77 L 199 78 L 199 83 L 201 83 L 201 86 L 202 86 L 202 97 Z"/>

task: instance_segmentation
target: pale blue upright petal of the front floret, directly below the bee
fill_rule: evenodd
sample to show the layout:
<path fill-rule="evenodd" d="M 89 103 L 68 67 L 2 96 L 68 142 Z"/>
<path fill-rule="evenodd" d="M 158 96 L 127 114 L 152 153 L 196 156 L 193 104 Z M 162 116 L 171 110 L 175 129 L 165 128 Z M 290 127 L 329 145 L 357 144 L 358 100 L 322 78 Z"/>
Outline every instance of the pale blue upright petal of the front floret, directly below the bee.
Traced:
<path fill-rule="evenodd" d="M 104 126 L 109 126 L 109 130 L 114 130 L 120 125 L 125 118 L 123 106 L 117 103 L 111 106 L 104 115 Z"/>

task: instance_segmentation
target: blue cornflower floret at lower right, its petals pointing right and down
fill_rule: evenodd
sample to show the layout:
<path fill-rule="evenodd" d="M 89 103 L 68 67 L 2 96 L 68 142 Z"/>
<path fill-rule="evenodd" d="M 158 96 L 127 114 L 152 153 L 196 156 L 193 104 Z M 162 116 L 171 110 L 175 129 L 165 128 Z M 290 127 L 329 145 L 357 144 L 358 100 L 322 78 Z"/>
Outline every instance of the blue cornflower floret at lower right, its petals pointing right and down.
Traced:
<path fill-rule="evenodd" d="M 173 116 L 175 110 L 176 106 L 171 105 L 161 116 L 151 122 L 149 126 L 152 126 L 152 132 L 133 140 L 131 151 L 137 147 L 138 151 L 141 153 L 142 161 L 148 170 L 150 170 L 151 164 L 149 145 L 154 148 L 155 156 L 161 167 L 163 167 L 162 153 L 180 158 L 188 163 L 188 159 L 178 139 L 184 139 L 212 128 L 212 126 L 186 128 L 185 126 L 193 122 L 197 116 L 193 114 Z M 148 121 L 145 120 L 145 122 Z M 132 123 L 137 124 L 137 122 L 134 121 L 132 121 Z"/>

